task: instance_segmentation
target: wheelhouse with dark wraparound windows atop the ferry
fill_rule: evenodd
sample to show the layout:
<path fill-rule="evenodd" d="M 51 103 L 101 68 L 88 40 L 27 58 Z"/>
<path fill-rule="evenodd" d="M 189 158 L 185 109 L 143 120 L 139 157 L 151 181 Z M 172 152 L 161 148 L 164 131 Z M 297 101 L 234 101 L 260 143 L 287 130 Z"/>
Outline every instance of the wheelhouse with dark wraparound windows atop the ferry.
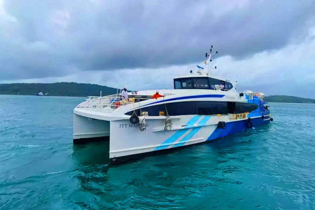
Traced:
<path fill-rule="evenodd" d="M 215 90 L 215 85 L 223 84 L 222 90 L 228 91 L 233 88 L 229 80 L 220 80 L 212 77 L 176 77 L 174 78 L 174 89 L 210 89 Z"/>

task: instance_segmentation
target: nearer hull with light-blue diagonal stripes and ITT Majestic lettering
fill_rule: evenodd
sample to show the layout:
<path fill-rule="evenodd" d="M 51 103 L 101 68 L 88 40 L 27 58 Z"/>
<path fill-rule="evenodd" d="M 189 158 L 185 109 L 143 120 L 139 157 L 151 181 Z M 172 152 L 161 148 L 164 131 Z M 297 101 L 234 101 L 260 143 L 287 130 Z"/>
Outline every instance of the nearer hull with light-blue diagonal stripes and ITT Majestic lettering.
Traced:
<path fill-rule="evenodd" d="M 252 119 L 254 126 L 270 122 L 265 119 Z M 219 121 L 226 122 L 226 128 L 217 128 Z M 146 130 L 141 132 L 138 124 L 129 120 L 110 122 L 111 163 L 129 161 L 141 157 L 144 153 L 157 153 L 161 150 L 175 149 L 221 138 L 246 128 L 246 120 L 229 121 L 228 116 L 181 116 L 173 119 L 172 130 L 164 130 L 164 119 L 146 120 Z M 183 126 L 184 125 L 184 126 Z"/>

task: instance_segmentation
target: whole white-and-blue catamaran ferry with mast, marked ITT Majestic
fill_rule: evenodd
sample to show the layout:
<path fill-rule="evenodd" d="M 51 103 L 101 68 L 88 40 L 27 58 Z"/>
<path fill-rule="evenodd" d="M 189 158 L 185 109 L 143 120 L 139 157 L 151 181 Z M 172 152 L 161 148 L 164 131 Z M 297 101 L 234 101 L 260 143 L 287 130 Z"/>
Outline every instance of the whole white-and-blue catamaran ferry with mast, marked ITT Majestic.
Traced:
<path fill-rule="evenodd" d="M 211 75 L 205 66 L 175 77 L 174 89 L 90 96 L 73 111 L 73 142 L 109 139 L 111 163 L 198 144 L 272 121 L 264 94 L 236 91 L 237 82 Z M 208 71 L 205 71 L 208 69 Z M 210 72 L 209 72 L 210 71 Z"/>

